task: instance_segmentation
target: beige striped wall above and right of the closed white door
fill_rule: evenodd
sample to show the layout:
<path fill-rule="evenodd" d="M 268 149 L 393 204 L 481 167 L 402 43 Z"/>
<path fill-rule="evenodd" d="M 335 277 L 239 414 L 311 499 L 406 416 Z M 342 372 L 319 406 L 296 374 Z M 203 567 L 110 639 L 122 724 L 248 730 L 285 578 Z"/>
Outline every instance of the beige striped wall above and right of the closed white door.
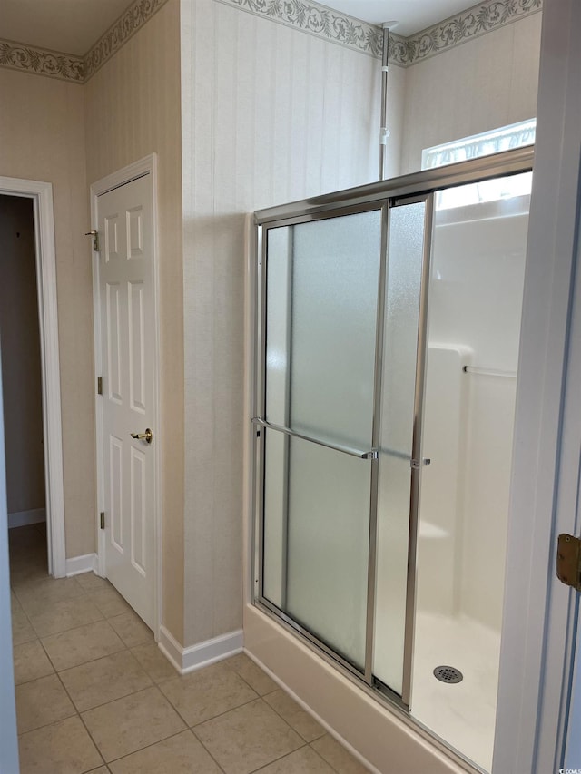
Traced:
<path fill-rule="evenodd" d="M 169 0 L 84 86 L 87 181 L 158 154 L 162 622 L 183 632 L 180 7 Z M 84 196 L 87 194 L 85 192 Z"/>

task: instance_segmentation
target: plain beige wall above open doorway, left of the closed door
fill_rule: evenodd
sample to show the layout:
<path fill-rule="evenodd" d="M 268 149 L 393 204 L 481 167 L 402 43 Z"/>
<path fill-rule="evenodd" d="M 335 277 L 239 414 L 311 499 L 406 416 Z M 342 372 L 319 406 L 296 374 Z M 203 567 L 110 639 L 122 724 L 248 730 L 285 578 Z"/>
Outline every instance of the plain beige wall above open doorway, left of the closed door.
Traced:
<path fill-rule="evenodd" d="M 0 69 L 0 174 L 53 184 L 66 555 L 95 550 L 91 251 L 83 89 Z"/>

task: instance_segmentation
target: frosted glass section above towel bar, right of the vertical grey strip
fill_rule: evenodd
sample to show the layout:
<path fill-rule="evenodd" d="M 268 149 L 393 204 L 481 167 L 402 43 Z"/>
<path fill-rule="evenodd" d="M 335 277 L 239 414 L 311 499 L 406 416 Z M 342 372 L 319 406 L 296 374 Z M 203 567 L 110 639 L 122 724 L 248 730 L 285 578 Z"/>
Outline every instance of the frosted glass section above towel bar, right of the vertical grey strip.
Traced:
<path fill-rule="evenodd" d="M 371 445 L 380 211 L 294 227 L 290 425 Z"/>

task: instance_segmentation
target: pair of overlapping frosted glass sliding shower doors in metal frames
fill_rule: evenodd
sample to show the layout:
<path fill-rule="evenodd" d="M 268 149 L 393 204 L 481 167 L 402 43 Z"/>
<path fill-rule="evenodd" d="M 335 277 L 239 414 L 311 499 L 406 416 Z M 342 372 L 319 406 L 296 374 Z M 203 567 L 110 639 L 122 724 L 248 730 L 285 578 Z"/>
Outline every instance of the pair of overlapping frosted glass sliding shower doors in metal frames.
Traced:
<path fill-rule="evenodd" d="M 426 217 L 420 197 L 269 224 L 254 419 L 261 603 L 404 703 Z"/>

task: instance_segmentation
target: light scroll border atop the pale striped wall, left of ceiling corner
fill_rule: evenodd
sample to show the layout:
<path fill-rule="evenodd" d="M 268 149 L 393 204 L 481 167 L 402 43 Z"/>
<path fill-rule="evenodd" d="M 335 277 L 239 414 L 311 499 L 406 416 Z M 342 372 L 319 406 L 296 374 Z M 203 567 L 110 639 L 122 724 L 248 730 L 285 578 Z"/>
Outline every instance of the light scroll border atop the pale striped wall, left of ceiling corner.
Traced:
<path fill-rule="evenodd" d="M 375 24 L 340 14 L 326 5 L 304 0 L 217 0 L 273 22 L 296 27 L 332 43 L 346 45 L 371 56 L 381 56 L 383 34 Z"/>

